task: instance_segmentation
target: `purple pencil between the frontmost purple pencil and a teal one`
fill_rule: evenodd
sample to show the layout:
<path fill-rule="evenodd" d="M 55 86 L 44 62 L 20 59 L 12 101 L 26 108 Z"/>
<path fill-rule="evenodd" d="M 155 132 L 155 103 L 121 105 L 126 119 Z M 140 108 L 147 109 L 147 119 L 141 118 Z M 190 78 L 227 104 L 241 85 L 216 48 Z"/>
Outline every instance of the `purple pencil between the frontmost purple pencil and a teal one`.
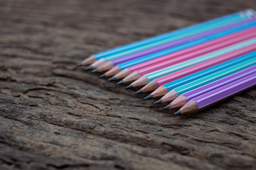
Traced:
<path fill-rule="evenodd" d="M 241 79 L 241 78 L 246 77 L 253 73 L 256 73 L 256 65 L 246 68 L 246 69 L 239 71 L 237 73 L 234 73 L 232 75 L 229 75 L 227 77 L 224 77 L 222 79 L 219 79 L 215 82 L 206 84 L 199 88 L 196 88 L 187 93 L 184 93 L 184 94 L 180 95 L 179 97 L 177 97 L 175 100 L 173 100 L 173 102 L 171 102 L 171 104 L 168 104 L 166 106 L 166 108 L 169 108 L 169 109 L 181 108 L 182 106 L 184 106 L 186 103 L 188 103 L 191 99 L 194 99 L 195 97 L 198 97 L 200 95 L 203 95 L 205 93 L 213 91 L 217 88 L 225 86 L 231 82 L 234 82 L 238 79 Z"/>

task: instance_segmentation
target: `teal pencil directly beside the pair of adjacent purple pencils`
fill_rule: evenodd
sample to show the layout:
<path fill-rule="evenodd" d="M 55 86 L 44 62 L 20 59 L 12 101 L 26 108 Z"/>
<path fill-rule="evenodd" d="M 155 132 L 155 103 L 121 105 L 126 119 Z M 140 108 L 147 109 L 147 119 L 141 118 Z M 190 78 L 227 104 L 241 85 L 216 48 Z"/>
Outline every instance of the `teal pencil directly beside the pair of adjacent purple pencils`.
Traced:
<path fill-rule="evenodd" d="M 228 75 L 231 75 L 231 74 L 236 73 L 238 71 L 241 71 L 245 68 L 253 66 L 254 64 L 256 64 L 256 56 L 252 57 L 249 60 L 245 60 L 243 62 L 235 64 L 233 66 L 229 66 L 229 67 L 227 67 L 223 70 L 217 71 L 216 73 L 212 73 L 210 75 L 207 75 L 205 77 L 197 79 L 197 80 L 195 80 L 193 82 L 190 82 L 188 84 L 184 84 L 183 86 L 174 88 L 169 93 L 167 93 L 165 96 L 168 97 L 168 101 L 173 101 L 178 96 L 180 96 L 180 95 L 182 95 L 186 92 L 189 92 L 191 90 L 194 90 L 195 88 L 204 86 L 205 84 L 209 84 L 209 83 L 214 82 L 218 79 L 221 79 L 225 76 L 228 76 Z M 164 100 L 164 98 L 162 100 Z"/>

